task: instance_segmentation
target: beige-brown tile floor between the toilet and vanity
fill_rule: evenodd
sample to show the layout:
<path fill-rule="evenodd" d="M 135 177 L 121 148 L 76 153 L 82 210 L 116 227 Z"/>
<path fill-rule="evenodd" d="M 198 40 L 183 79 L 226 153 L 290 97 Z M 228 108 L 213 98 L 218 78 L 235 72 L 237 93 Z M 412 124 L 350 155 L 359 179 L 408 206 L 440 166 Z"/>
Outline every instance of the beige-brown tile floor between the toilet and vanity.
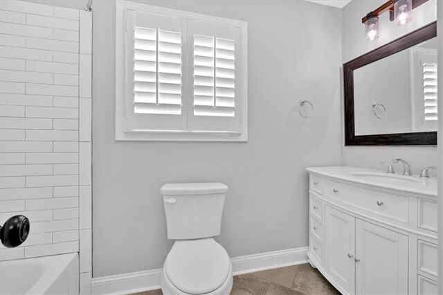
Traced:
<path fill-rule="evenodd" d="M 160 289 L 134 295 L 161 295 Z M 309 264 L 234 276 L 231 295 L 340 294 Z"/>

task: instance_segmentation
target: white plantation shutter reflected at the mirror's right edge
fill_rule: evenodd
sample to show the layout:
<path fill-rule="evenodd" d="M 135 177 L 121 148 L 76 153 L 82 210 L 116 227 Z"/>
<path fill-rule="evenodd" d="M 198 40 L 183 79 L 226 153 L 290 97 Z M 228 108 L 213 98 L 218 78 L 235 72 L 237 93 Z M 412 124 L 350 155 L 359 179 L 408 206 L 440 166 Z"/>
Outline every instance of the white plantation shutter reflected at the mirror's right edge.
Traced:
<path fill-rule="evenodd" d="M 424 120 L 437 120 L 437 64 L 423 65 Z"/>

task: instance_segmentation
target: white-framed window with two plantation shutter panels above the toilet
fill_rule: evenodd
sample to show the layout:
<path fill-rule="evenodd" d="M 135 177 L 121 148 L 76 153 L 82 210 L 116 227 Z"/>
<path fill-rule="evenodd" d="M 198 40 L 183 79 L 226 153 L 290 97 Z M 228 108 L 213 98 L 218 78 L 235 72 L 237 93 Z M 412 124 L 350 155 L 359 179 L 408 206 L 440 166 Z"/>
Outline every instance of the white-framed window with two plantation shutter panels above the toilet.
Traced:
<path fill-rule="evenodd" d="M 247 24 L 117 1 L 116 139 L 247 141 Z"/>

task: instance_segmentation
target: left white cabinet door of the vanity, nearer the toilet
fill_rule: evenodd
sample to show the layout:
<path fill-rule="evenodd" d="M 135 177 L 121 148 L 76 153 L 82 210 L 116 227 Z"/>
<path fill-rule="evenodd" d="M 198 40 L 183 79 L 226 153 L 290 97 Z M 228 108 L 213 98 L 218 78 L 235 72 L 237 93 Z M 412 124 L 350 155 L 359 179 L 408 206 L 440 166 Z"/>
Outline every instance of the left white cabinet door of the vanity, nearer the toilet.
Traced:
<path fill-rule="evenodd" d="M 325 206 L 325 269 L 347 292 L 355 292 L 355 218 Z"/>

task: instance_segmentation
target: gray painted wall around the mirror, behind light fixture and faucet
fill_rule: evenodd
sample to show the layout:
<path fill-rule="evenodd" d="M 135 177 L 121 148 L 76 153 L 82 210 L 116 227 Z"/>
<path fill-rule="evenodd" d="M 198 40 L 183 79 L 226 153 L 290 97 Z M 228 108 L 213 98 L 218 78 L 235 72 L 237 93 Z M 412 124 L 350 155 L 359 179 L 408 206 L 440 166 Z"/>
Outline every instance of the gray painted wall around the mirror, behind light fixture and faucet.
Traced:
<path fill-rule="evenodd" d="M 343 62 L 349 62 L 437 18 L 435 1 L 428 1 L 413 10 L 413 21 L 406 26 L 395 26 L 389 21 L 388 13 L 385 13 L 380 17 L 380 38 L 374 42 L 368 42 L 365 40 L 361 18 L 385 2 L 385 0 L 353 0 L 343 8 Z M 417 174 L 425 166 L 437 165 L 437 147 L 343 146 L 343 165 L 345 166 L 383 169 L 379 164 L 380 161 L 391 161 L 396 157 L 409 161 L 412 164 L 413 173 Z M 397 167 L 397 171 L 401 172 L 403 169 L 401 165 Z"/>

